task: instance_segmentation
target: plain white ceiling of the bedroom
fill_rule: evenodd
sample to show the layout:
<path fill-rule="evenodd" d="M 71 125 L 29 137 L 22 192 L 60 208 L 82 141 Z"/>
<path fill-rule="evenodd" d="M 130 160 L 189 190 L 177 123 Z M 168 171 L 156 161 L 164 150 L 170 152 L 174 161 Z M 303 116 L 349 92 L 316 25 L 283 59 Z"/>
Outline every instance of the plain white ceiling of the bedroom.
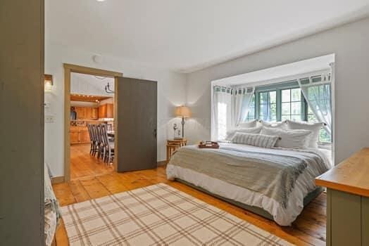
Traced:
<path fill-rule="evenodd" d="M 363 17 L 369 0 L 51 0 L 46 41 L 165 67 L 201 68 Z"/>

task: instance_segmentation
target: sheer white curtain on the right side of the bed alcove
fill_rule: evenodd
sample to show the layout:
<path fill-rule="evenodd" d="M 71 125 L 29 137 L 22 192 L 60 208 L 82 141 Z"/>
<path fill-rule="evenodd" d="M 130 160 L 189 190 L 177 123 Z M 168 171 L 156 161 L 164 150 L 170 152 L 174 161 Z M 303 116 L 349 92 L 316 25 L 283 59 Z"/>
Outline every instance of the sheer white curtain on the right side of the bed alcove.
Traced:
<path fill-rule="evenodd" d="M 331 70 L 332 71 L 332 70 Z M 322 75 L 323 81 L 314 84 L 301 84 L 298 79 L 301 91 L 313 111 L 315 117 L 325 123 L 325 130 L 332 135 L 332 103 L 331 103 L 331 82 L 334 79 L 334 73 Z"/>

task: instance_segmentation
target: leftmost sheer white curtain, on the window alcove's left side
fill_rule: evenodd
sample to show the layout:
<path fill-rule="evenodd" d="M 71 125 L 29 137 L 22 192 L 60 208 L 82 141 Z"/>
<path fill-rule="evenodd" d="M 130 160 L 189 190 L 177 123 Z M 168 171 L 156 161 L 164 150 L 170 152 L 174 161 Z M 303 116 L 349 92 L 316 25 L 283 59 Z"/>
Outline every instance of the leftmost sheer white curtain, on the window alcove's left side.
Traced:
<path fill-rule="evenodd" d="M 213 87 L 212 139 L 224 139 L 227 129 L 232 127 L 233 89 L 223 86 Z"/>

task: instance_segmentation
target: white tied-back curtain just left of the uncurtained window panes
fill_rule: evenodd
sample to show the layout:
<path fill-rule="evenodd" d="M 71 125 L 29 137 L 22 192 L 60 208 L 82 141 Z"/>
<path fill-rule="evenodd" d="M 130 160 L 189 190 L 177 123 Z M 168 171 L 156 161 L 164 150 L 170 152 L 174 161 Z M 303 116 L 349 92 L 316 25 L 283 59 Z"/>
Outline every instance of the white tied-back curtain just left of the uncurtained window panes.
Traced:
<path fill-rule="evenodd" d="M 245 122 L 249 106 L 254 95 L 255 88 L 234 89 L 234 107 L 232 108 L 232 127 L 237 127 L 239 123 Z"/>

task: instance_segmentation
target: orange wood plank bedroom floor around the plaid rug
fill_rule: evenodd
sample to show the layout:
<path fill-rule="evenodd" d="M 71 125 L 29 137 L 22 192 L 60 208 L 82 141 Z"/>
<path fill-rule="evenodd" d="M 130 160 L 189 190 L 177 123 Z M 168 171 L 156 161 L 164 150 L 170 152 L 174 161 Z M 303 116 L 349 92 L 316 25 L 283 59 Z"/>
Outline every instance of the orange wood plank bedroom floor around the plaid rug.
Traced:
<path fill-rule="evenodd" d="M 88 152 L 87 152 L 88 155 Z M 77 158 L 76 158 L 77 159 Z M 87 160 L 88 156 L 81 157 L 80 160 Z M 144 186 L 150 186 L 155 183 L 167 183 L 184 193 L 194 196 L 200 200 L 204 200 L 208 204 L 223 209 L 230 214 L 234 214 L 241 219 L 249 221 L 251 224 L 263 228 L 280 238 L 284 238 L 296 245 L 325 245 L 325 208 L 326 195 L 322 193 L 315 198 L 305 209 L 304 212 L 294 221 L 291 227 L 281 227 L 275 222 L 264 219 L 261 216 L 248 212 L 244 209 L 230 205 L 227 202 L 213 198 L 211 195 L 202 193 L 199 190 L 190 188 L 176 181 L 168 181 L 165 176 L 165 167 L 150 169 L 144 171 L 130 171 L 125 173 L 115 173 L 108 171 L 107 174 L 96 174 L 96 171 L 83 170 L 82 167 L 89 164 L 78 164 L 79 168 L 71 169 L 75 174 L 71 174 L 74 178 L 70 183 L 54 184 L 56 198 L 58 198 L 61 206 L 70 205 L 75 202 L 83 202 L 85 200 L 100 198 L 113 193 L 120 193 L 126 190 L 132 190 Z M 95 163 L 96 164 L 96 163 Z M 101 163 L 101 165 L 104 165 Z M 92 169 L 92 167 L 86 167 Z M 91 174 L 82 176 L 82 174 Z M 56 233 L 56 244 L 58 246 L 68 245 L 63 222 L 58 227 Z"/>

